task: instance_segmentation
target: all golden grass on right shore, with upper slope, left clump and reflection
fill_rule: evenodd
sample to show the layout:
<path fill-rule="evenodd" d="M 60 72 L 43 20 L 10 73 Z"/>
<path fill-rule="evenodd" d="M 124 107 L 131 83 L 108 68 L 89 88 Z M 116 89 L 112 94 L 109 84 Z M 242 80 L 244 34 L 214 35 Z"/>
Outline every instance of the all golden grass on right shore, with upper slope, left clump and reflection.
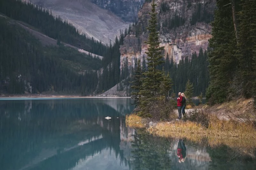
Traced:
<path fill-rule="evenodd" d="M 147 128 L 147 131 L 156 136 L 187 138 L 198 143 L 208 140 L 209 145 L 212 147 L 227 145 L 241 153 L 250 154 L 256 148 L 256 129 L 253 121 L 248 121 L 249 119 L 245 118 L 244 121 L 239 121 L 239 119 L 235 119 L 236 117 L 234 119 L 229 118 L 229 121 L 227 121 L 220 120 L 223 117 L 218 116 L 220 116 L 219 113 L 226 114 L 228 111 L 234 113 L 234 115 L 237 113 L 245 115 L 248 108 L 251 111 L 253 110 L 251 108 L 252 103 L 252 99 L 239 99 L 213 107 L 206 107 L 207 109 L 204 109 L 204 114 L 199 114 L 199 117 L 205 117 L 209 123 L 207 124 L 208 126 L 191 121 L 173 121 L 150 126 Z M 187 105 L 186 109 L 189 109 L 189 107 Z M 207 110 L 210 110 L 210 112 L 208 113 Z M 176 116 L 175 114 L 173 115 Z M 252 116 L 252 120 L 255 120 L 256 114 L 250 112 L 250 115 Z M 201 119 L 197 120 L 197 122 L 200 122 Z M 126 117 L 126 120 L 128 126 L 144 127 L 143 124 L 139 125 L 141 118 L 136 115 Z"/>

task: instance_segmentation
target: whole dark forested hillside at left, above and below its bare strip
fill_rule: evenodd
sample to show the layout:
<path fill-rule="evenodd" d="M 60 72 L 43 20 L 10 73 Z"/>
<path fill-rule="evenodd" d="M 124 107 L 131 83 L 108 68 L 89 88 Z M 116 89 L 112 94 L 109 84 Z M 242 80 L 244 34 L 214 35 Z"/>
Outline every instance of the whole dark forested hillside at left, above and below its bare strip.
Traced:
<path fill-rule="evenodd" d="M 20 23 L 17 24 L 15 20 L 2 15 L 2 93 L 47 91 L 89 95 L 107 90 L 119 82 L 119 45 L 124 39 L 124 33 L 120 32 L 120 39 L 116 38 L 116 42 L 108 46 L 80 35 L 73 25 L 62 21 L 61 18 L 54 18 L 50 11 L 31 3 L 2 0 L 0 12 L 22 21 L 23 25 L 20 27 Z M 42 46 L 35 37 L 23 29 L 24 25 L 57 39 L 58 46 Z M 102 61 L 92 58 L 93 55 L 79 53 L 61 45 L 61 42 L 104 58 Z"/>

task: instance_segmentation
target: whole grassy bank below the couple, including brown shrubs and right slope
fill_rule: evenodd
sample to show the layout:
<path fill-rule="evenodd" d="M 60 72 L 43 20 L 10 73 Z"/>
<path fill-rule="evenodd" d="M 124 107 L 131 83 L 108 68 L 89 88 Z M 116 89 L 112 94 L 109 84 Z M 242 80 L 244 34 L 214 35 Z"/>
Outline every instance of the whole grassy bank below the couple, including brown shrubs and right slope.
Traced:
<path fill-rule="evenodd" d="M 250 104 L 250 102 L 248 103 Z M 230 106 L 231 104 L 234 105 L 233 108 Z M 237 148 L 256 148 L 254 110 L 250 109 L 248 105 L 246 107 L 243 104 L 241 106 L 246 108 L 246 110 L 238 110 L 239 106 L 239 103 L 234 104 L 234 101 L 232 101 L 220 106 L 213 106 L 189 113 L 184 121 L 174 119 L 169 122 L 156 122 L 153 125 L 149 125 L 149 119 L 131 114 L 126 116 L 126 124 L 134 128 L 146 127 L 147 132 L 160 137 L 187 138 L 195 142 L 201 142 L 206 139 L 211 146 L 223 144 Z M 226 108 L 226 110 L 223 110 L 223 108 Z M 247 112 L 248 108 L 251 112 Z M 248 116 L 249 114 L 250 116 Z M 223 115 L 226 116 L 224 117 Z M 224 118 L 228 118 L 228 120 Z"/>

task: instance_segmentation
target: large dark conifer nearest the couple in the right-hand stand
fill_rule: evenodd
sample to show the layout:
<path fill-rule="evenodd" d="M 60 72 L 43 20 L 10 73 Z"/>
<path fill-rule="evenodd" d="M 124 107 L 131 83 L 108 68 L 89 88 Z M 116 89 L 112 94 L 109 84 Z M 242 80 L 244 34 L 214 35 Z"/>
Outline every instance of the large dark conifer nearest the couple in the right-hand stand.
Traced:
<path fill-rule="evenodd" d="M 224 102 L 233 81 L 236 60 L 236 35 L 234 31 L 231 6 L 225 6 L 229 0 L 217 2 L 215 18 L 212 22 L 212 38 L 209 40 L 210 85 L 206 98 L 210 104 Z"/>

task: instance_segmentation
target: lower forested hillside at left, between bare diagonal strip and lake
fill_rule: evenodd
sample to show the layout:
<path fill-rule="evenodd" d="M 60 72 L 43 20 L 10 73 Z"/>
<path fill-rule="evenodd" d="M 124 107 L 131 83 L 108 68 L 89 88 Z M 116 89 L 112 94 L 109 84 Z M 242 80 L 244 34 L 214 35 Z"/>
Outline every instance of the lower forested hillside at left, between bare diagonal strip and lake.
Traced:
<path fill-rule="evenodd" d="M 15 21 L 0 18 L 0 93 L 89 94 L 100 59 L 62 46 L 42 46 Z"/>

